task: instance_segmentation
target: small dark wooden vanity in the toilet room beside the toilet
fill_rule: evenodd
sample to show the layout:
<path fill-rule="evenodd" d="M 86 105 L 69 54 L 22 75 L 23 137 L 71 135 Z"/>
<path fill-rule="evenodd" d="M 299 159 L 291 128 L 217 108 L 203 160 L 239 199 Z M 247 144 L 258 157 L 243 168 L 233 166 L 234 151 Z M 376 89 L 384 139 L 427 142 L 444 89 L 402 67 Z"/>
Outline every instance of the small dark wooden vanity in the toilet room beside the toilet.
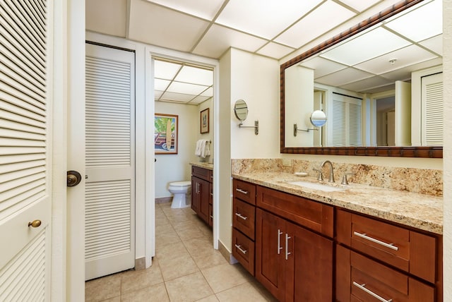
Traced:
<path fill-rule="evenodd" d="M 213 225 L 212 171 L 212 164 L 191 164 L 191 209 L 210 227 Z"/>

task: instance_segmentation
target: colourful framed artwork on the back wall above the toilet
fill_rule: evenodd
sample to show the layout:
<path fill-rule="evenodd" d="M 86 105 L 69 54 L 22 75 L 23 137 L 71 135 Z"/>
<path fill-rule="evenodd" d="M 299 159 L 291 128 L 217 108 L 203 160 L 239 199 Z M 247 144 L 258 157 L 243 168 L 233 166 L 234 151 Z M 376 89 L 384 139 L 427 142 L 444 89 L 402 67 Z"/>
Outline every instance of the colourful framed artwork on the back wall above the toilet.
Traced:
<path fill-rule="evenodd" d="M 177 130 L 179 116 L 155 114 L 154 150 L 155 154 L 177 154 Z"/>

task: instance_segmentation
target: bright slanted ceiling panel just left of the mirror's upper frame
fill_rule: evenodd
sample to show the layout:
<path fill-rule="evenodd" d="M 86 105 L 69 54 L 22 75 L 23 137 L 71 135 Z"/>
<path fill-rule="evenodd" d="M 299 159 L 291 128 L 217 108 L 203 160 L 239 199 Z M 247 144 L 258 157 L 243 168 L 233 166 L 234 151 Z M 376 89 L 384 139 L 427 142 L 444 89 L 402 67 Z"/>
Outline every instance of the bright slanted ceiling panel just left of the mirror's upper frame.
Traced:
<path fill-rule="evenodd" d="M 315 11 L 309 13 L 308 16 L 276 37 L 275 41 L 299 48 L 353 16 L 355 16 L 355 13 L 347 8 L 333 1 L 326 1 Z"/>

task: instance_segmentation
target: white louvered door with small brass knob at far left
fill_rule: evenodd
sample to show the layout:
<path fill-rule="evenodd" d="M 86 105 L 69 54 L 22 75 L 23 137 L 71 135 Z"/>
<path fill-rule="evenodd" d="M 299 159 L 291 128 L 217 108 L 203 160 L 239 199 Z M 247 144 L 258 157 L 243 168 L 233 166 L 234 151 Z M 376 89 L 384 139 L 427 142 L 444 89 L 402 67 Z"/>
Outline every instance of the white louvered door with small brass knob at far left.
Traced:
<path fill-rule="evenodd" d="M 0 1 L 0 301 L 50 300 L 51 5 Z"/>

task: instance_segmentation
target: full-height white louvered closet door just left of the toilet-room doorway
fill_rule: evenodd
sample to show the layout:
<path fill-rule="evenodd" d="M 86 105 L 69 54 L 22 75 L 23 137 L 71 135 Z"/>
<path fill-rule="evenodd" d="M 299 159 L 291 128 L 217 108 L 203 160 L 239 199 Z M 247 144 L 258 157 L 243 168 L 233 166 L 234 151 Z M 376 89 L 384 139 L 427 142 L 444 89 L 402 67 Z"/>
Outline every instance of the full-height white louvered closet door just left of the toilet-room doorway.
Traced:
<path fill-rule="evenodd" d="M 86 44 L 87 280 L 135 266 L 134 58 Z"/>

